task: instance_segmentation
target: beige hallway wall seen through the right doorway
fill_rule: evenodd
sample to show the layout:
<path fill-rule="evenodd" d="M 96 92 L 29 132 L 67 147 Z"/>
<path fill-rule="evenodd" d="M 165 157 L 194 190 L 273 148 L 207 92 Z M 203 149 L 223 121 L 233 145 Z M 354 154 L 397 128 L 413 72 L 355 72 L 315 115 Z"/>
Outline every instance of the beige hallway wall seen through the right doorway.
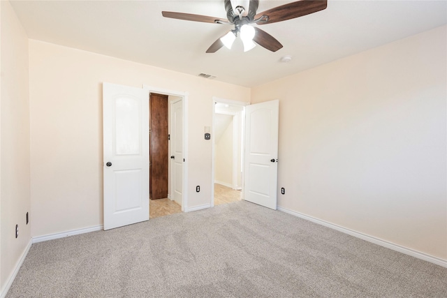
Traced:
<path fill-rule="evenodd" d="M 215 182 L 224 186 L 233 187 L 233 116 L 216 114 L 216 118 L 224 117 L 229 121 L 221 121 L 222 124 L 227 124 L 222 128 L 223 133 L 215 144 Z M 216 121 L 219 123 L 219 121 Z"/>

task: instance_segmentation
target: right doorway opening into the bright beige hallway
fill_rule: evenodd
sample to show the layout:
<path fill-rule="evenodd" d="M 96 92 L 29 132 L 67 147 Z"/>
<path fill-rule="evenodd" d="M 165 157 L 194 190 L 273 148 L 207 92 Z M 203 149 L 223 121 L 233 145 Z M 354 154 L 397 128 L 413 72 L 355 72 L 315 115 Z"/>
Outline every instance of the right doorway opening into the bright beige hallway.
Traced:
<path fill-rule="evenodd" d="M 211 206 L 242 200 L 244 107 L 247 103 L 213 98 Z"/>

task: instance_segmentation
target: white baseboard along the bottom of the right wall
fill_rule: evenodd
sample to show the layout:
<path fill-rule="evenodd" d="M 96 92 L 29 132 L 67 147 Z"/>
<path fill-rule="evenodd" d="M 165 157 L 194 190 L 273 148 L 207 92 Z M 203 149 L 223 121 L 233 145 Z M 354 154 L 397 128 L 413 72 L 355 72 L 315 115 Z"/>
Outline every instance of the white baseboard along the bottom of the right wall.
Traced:
<path fill-rule="evenodd" d="M 365 240 L 365 241 L 368 241 L 368 242 L 372 242 L 374 244 L 377 244 L 377 245 L 380 245 L 380 246 L 383 246 L 383 247 L 386 247 L 386 248 L 390 248 L 393 251 L 398 251 L 398 252 L 404 253 L 406 255 L 411 255 L 414 258 L 425 260 L 427 262 L 432 262 L 433 264 L 436 264 L 436 265 L 439 265 L 439 266 L 442 266 L 442 267 L 447 267 L 447 260 L 443 260 L 441 258 L 437 258 L 437 257 L 434 257 L 432 255 L 427 255 L 426 253 L 421 253 L 420 251 L 414 251 L 411 248 L 406 248 L 404 246 L 400 246 L 400 245 L 394 244 L 392 242 L 388 242 L 388 241 L 385 241 L 385 240 L 382 240 L 382 239 L 379 239 L 379 238 L 376 238 L 376 237 L 372 237 L 372 236 L 369 236 L 367 234 L 362 234 L 360 232 L 349 230 L 349 229 L 343 228 L 343 227 L 341 227 L 339 225 L 334 225 L 333 223 L 328 223 L 327 221 L 321 221 L 321 219 L 314 218 L 312 216 L 308 216 L 308 215 L 305 215 L 305 214 L 301 214 L 299 212 L 296 212 L 296 211 L 293 211 L 293 210 L 290 210 L 290 209 L 286 209 L 284 207 L 279 207 L 278 206 L 277 209 L 279 211 L 283 211 L 283 212 L 286 212 L 288 214 L 291 214 L 291 215 L 294 215 L 294 216 L 298 216 L 299 218 L 303 218 L 303 219 L 305 219 L 307 221 L 312 221 L 313 223 L 318 223 L 318 225 L 324 225 L 325 227 L 337 230 L 339 232 L 343 232 L 345 234 L 349 234 L 349 235 L 351 235 L 353 237 L 357 237 L 357 238 L 360 238 L 362 240 Z"/>

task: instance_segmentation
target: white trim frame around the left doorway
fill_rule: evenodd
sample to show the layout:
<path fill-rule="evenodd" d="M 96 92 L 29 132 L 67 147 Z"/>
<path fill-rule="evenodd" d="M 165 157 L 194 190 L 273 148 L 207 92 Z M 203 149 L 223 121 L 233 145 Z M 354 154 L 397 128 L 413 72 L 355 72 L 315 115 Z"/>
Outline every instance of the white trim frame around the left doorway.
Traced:
<path fill-rule="evenodd" d="M 149 94 L 158 93 L 165 94 L 168 96 L 178 96 L 182 97 L 182 107 L 183 107 L 183 173 L 182 173 L 182 211 L 188 212 L 188 92 L 184 91 L 174 91 L 170 89 L 163 89 L 159 87 L 149 86 L 147 84 L 142 85 L 142 89 L 147 90 L 147 100 L 149 100 Z M 171 171 L 172 172 L 172 171 Z M 171 174 L 171 173 L 170 173 Z M 149 183 L 149 182 L 148 182 Z"/>

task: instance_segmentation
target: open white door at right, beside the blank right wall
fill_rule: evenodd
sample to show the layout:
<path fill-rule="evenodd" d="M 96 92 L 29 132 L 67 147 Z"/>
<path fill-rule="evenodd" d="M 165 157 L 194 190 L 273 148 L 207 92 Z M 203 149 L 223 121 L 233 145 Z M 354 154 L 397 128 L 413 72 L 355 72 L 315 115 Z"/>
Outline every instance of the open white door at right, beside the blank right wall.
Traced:
<path fill-rule="evenodd" d="M 244 200 L 277 209 L 279 100 L 245 108 Z"/>

